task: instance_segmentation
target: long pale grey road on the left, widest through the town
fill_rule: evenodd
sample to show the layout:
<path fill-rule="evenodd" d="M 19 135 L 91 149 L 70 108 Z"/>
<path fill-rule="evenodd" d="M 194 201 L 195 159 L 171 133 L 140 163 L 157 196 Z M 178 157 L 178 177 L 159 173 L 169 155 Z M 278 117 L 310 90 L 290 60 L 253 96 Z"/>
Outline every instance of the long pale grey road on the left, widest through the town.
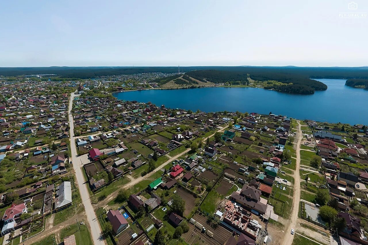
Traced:
<path fill-rule="evenodd" d="M 75 146 L 75 138 L 74 138 L 74 120 L 73 116 L 70 114 L 73 104 L 73 99 L 75 94 L 72 93 L 70 96 L 69 102 L 69 125 L 70 125 L 70 148 L 71 148 L 71 160 L 73 161 L 73 168 L 75 171 L 75 176 L 77 177 L 77 184 L 79 188 L 79 192 L 81 193 L 82 202 L 84 205 L 84 209 L 86 210 L 87 221 L 89 223 L 89 227 L 91 227 L 92 241 L 95 245 L 105 245 L 105 242 L 100 238 L 101 235 L 101 227 L 96 217 L 95 211 L 93 210 L 91 199 L 89 198 L 89 192 L 84 184 L 84 176 L 81 169 L 81 164 L 77 162 L 77 148 Z"/>

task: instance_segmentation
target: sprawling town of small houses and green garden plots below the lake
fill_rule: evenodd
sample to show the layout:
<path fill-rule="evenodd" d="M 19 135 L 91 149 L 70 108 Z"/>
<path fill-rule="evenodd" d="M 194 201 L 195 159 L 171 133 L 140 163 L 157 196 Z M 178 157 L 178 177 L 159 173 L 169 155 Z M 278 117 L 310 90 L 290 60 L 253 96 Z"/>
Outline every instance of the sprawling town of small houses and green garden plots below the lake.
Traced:
<path fill-rule="evenodd" d="M 1 81 L 0 244 L 368 244 L 365 125 L 37 79 Z"/>

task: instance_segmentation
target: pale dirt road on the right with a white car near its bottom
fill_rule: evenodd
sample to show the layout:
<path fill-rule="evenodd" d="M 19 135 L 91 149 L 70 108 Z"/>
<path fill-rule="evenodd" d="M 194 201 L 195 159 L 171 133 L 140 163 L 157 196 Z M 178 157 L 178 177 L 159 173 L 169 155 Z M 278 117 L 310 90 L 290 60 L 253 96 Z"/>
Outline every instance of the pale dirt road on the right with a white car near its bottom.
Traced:
<path fill-rule="evenodd" d="M 298 121 L 298 141 L 297 141 L 297 163 L 296 163 L 296 171 L 294 171 L 294 199 L 293 199 L 293 207 L 291 209 L 291 219 L 289 225 L 286 227 L 285 236 L 283 245 L 291 245 L 293 243 L 294 235 L 290 234 L 292 228 L 295 229 L 298 222 L 298 211 L 299 211 L 299 202 L 300 202 L 300 176 L 299 176 L 299 168 L 300 168 L 300 143 L 303 139 L 301 133 L 300 121 Z"/>

